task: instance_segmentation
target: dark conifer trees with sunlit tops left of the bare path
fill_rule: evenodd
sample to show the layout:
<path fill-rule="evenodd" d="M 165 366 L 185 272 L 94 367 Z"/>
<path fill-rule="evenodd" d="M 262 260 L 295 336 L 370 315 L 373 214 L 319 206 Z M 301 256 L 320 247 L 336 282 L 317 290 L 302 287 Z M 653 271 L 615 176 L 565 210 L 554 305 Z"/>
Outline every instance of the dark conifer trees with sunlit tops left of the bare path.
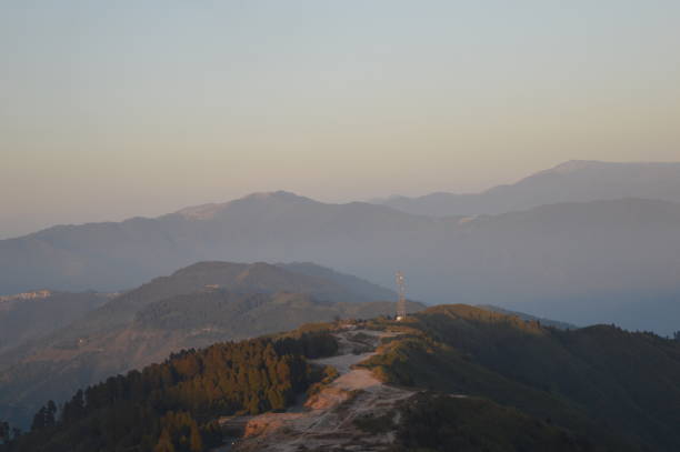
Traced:
<path fill-rule="evenodd" d="M 283 410 L 317 378 L 308 358 L 336 352 L 326 331 L 228 342 L 48 402 L 17 452 L 199 452 L 220 444 L 217 419 Z M 8 426 L 9 428 L 9 426 Z"/>

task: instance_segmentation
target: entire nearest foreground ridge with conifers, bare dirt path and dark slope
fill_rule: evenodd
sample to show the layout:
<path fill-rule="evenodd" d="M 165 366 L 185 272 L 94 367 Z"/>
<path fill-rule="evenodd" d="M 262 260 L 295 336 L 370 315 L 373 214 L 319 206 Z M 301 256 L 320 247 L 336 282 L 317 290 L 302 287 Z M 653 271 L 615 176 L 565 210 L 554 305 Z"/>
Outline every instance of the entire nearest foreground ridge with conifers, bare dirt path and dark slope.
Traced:
<path fill-rule="evenodd" d="M 679 378 L 676 341 L 440 305 L 184 351 L 46 405 L 11 450 L 670 452 Z"/>

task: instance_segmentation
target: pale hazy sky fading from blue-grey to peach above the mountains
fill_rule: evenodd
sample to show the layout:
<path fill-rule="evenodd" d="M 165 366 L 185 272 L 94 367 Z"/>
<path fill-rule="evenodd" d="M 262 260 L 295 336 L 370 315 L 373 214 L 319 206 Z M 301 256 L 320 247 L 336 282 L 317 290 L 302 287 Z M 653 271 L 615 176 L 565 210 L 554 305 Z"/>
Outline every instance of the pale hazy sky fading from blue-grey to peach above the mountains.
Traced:
<path fill-rule="evenodd" d="M 680 160 L 680 1 L 0 0 L 0 238 Z"/>

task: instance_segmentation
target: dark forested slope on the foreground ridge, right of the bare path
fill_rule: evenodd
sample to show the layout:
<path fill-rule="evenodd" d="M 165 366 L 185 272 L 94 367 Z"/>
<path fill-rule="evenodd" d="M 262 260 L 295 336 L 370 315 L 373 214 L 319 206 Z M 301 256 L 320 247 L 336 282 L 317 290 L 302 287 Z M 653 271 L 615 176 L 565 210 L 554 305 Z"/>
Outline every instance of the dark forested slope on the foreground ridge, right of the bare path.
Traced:
<path fill-rule="evenodd" d="M 558 330 L 468 305 L 434 307 L 399 328 L 408 334 L 366 364 L 386 381 L 490 399 L 604 441 L 680 449 L 677 341 L 608 325 Z"/>

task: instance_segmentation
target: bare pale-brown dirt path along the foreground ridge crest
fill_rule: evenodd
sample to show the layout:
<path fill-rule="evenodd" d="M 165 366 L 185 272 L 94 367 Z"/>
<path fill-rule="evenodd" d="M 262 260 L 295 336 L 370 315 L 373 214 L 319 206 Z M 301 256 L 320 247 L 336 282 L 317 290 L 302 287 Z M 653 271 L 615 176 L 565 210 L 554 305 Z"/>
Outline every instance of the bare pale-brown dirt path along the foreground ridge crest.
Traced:
<path fill-rule="evenodd" d="M 388 450 L 399 422 L 394 405 L 414 391 L 387 385 L 370 370 L 352 366 L 374 355 L 383 338 L 398 333 L 348 329 L 334 335 L 339 354 L 312 362 L 336 368 L 339 376 L 309 398 L 303 409 L 249 418 L 244 438 L 232 449 L 234 452 Z M 394 429 L 371 433 L 354 422 L 358 418 L 380 416 L 390 416 Z"/>

